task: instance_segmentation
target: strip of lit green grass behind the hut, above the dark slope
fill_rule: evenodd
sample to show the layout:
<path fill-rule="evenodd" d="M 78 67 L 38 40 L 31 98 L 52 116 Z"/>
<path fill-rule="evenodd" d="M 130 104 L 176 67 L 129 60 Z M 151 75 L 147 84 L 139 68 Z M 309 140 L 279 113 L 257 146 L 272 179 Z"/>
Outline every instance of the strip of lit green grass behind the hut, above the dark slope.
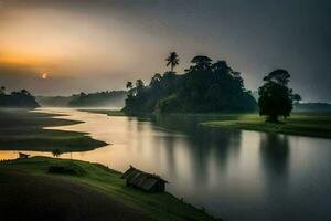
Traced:
<path fill-rule="evenodd" d="M 84 171 L 81 176 L 70 176 L 64 173 L 50 173 L 50 166 L 60 165 L 72 170 Z M 73 169 L 74 168 L 74 169 Z M 136 209 L 151 220 L 215 220 L 204 211 L 199 210 L 170 193 L 148 193 L 125 185 L 120 179 L 121 173 L 108 169 L 98 164 L 89 164 L 79 160 L 55 159 L 47 157 L 33 157 L 30 159 L 7 160 L 0 164 L 0 170 L 20 171 L 33 176 L 51 176 L 56 179 L 64 179 L 75 183 L 83 183 L 89 188 L 102 191 L 109 198 Z M 65 200 L 65 199 L 63 199 Z"/>

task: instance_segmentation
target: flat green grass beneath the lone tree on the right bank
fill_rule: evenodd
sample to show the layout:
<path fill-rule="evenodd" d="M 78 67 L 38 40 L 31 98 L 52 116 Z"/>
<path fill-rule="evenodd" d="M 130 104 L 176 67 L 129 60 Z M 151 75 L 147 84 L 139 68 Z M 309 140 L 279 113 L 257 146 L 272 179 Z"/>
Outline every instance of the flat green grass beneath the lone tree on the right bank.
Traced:
<path fill-rule="evenodd" d="M 280 123 L 267 123 L 257 114 L 220 116 L 217 120 L 201 123 L 206 127 L 223 127 L 267 133 L 331 138 L 331 113 L 292 113 Z"/>

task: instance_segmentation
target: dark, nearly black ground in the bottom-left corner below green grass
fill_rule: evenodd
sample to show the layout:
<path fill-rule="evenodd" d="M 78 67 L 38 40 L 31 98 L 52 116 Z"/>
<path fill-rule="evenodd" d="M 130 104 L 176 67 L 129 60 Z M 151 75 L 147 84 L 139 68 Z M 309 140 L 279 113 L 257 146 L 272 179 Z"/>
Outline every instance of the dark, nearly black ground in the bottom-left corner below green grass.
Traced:
<path fill-rule="evenodd" d="M 84 185 L 0 169 L 0 220 L 148 220 Z"/>

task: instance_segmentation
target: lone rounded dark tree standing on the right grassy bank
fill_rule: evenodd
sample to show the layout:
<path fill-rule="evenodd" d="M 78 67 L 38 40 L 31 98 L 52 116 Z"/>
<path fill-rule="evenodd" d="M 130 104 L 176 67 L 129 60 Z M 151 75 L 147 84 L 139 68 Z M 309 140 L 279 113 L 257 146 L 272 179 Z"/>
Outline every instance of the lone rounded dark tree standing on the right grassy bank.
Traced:
<path fill-rule="evenodd" d="M 295 101 L 301 99 L 287 84 L 290 74 L 286 70 L 276 70 L 264 77 L 266 82 L 258 88 L 259 114 L 267 116 L 267 122 L 278 122 L 278 116 L 288 117 Z"/>

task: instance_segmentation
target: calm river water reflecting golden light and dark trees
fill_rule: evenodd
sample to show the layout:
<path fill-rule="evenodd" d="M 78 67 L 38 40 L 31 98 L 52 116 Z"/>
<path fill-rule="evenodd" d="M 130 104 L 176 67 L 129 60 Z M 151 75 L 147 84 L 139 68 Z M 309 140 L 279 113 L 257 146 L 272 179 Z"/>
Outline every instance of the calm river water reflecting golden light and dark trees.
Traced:
<path fill-rule="evenodd" d="M 86 122 L 56 129 L 87 131 L 111 144 L 61 157 L 159 173 L 169 180 L 169 192 L 216 217 L 331 220 L 331 139 L 207 130 L 185 117 L 160 120 L 170 130 L 130 117 L 44 110 Z M 17 151 L 0 151 L 0 158 L 15 157 Z"/>

